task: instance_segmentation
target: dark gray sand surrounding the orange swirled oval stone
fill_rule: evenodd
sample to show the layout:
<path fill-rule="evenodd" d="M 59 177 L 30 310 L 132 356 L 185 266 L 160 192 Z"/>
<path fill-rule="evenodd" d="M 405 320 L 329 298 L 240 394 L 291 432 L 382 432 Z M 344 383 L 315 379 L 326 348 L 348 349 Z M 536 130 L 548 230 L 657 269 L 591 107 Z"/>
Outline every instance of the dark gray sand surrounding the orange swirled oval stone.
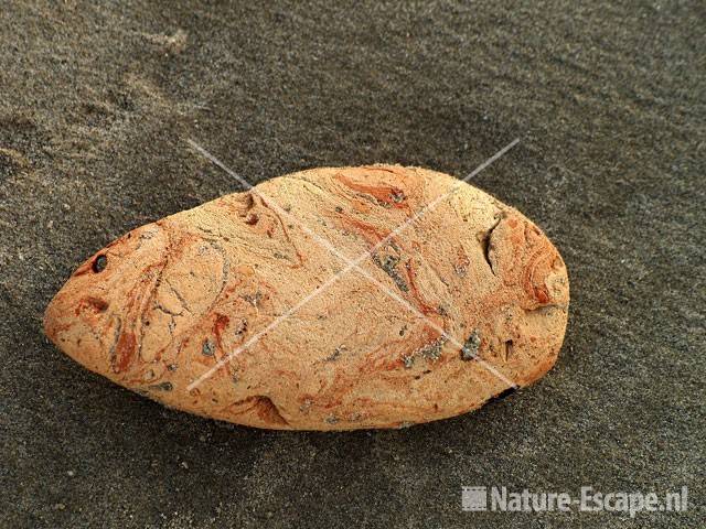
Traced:
<path fill-rule="evenodd" d="M 331 7 L 2 2 L 0 526 L 698 527 L 704 521 L 702 2 Z M 338 4 L 338 2 L 336 2 Z M 318 165 L 462 176 L 571 278 L 537 385 L 400 431 L 277 433 L 170 411 L 44 338 L 125 231 Z M 461 486 L 660 494 L 684 514 L 462 512 Z"/>

